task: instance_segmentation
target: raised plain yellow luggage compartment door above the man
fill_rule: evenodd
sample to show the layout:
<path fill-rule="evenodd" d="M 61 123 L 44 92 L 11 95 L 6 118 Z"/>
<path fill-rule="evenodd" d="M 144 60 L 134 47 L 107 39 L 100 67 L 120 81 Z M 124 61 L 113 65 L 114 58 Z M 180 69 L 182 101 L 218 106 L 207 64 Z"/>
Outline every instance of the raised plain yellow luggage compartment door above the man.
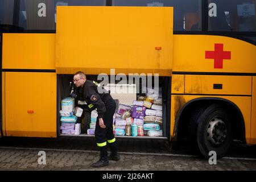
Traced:
<path fill-rule="evenodd" d="M 171 76 L 172 45 L 172 7 L 57 6 L 57 74 Z"/>

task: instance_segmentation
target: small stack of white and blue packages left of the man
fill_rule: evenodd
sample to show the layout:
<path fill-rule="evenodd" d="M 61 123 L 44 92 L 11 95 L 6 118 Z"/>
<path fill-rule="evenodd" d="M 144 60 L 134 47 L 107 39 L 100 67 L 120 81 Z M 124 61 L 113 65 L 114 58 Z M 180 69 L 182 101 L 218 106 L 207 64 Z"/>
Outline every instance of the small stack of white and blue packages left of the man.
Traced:
<path fill-rule="evenodd" d="M 60 130 L 62 134 L 75 134 L 75 125 L 77 117 L 74 115 L 75 110 L 75 100 L 72 97 L 64 98 L 61 101 L 60 110 Z"/>

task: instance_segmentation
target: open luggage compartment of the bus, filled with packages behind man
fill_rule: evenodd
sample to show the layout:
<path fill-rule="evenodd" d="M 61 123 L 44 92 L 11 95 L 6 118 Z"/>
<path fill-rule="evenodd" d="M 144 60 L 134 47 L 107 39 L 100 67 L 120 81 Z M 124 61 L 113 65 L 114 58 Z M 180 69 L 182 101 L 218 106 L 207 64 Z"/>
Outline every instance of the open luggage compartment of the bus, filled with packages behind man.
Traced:
<path fill-rule="evenodd" d="M 159 77 L 159 96 L 152 96 L 152 94 L 148 92 L 150 89 L 147 89 L 146 93 L 145 88 L 142 86 L 142 79 L 139 79 L 139 82 L 136 82 L 135 80 L 138 81 L 137 78 L 134 77 L 133 84 L 131 84 L 130 81 L 130 84 L 128 84 L 129 79 L 127 78 L 127 84 L 122 84 L 122 87 L 120 87 L 121 84 L 118 84 L 117 81 L 115 81 L 115 84 L 108 84 L 104 86 L 105 89 L 110 90 L 110 95 L 112 95 L 117 103 L 117 109 L 115 110 L 113 118 L 115 136 L 118 138 L 142 139 L 169 138 L 170 117 L 168 116 L 170 116 L 171 77 Z M 148 77 L 146 78 L 148 81 Z M 101 82 L 101 80 L 97 80 L 97 75 L 86 75 L 86 79 L 96 81 L 98 83 Z M 89 110 L 84 110 L 82 117 L 77 118 L 76 123 L 81 123 L 81 134 L 63 134 L 63 130 L 61 130 L 63 129 L 60 121 L 61 101 L 64 98 L 70 97 L 70 85 L 72 80 L 73 75 L 57 75 L 58 135 L 70 137 L 94 137 L 94 134 L 91 132 L 93 131 L 92 129 L 94 128 L 96 121 L 96 117 L 93 116 L 95 115 L 95 110 L 93 110 L 92 113 L 90 113 Z M 152 88 L 154 88 L 154 80 L 152 80 L 152 85 Z M 123 93 L 126 89 L 129 91 L 128 88 L 130 88 L 130 92 Z M 136 88 L 138 88 L 139 92 L 136 92 Z M 131 90 L 133 90 L 133 92 L 131 92 Z M 122 93 L 119 93 L 121 91 Z M 148 100 L 148 95 L 151 98 L 156 97 L 156 99 Z M 132 132 L 133 134 L 131 134 Z M 161 135 L 156 133 L 161 133 Z"/>

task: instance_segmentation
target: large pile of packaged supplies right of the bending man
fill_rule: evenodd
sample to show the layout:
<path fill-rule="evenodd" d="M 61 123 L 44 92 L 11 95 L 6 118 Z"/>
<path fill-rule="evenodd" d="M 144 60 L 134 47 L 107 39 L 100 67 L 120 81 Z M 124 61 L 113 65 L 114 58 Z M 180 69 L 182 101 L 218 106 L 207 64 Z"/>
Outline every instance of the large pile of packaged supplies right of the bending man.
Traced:
<path fill-rule="evenodd" d="M 132 106 L 120 104 L 115 113 L 115 135 L 160 137 L 162 131 L 162 98 L 147 89 Z"/>

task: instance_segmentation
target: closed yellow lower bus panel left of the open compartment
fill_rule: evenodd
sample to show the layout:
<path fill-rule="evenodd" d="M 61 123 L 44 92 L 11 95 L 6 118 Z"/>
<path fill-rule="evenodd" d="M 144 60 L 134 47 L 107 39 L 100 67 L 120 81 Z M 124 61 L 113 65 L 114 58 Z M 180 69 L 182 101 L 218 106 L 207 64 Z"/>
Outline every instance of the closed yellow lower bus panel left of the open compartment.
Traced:
<path fill-rule="evenodd" d="M 5 74 L 6 135 L 57 137 L 56 73 Z"/>

